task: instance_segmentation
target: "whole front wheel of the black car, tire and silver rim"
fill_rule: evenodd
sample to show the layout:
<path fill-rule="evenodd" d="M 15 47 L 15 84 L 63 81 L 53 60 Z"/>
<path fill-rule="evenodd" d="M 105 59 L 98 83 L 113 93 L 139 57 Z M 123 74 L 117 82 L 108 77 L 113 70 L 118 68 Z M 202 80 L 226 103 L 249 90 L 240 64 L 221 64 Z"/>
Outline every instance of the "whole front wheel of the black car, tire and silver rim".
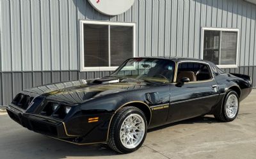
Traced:
<path fill-rule="evenodd" d="M 147 119 L 136 107 L 124 107 L 115 116 L 109 130 L 108 146 L 118 153 L 131 153 L 143 144 Z"/>

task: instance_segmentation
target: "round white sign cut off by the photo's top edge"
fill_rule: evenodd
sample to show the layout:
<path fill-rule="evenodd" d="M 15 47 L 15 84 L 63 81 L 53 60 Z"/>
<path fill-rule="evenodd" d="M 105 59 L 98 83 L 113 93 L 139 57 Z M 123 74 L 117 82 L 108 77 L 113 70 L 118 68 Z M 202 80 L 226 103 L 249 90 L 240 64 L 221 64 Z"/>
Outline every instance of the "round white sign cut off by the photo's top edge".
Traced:
<path fill-rule="evenodd" d="M 88 0 L 95 10 L 106 15 L 118 15 L 131 8 L 134 0 Z"/>

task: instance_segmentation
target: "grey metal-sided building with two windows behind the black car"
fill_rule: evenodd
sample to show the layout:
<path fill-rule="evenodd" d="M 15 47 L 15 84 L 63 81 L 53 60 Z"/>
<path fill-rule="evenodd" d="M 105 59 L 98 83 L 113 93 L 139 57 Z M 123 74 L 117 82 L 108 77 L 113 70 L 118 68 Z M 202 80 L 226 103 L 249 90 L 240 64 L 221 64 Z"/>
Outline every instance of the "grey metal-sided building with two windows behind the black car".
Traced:
<path fill-rule="evenodd" d="M 109 75 L 132 56 L 207 59 L 256 87 L 255 18 L 253 0 L 135 0 L 115 16 L 88 0 L 0 0 L 0 105 L 29 87 Z"/>

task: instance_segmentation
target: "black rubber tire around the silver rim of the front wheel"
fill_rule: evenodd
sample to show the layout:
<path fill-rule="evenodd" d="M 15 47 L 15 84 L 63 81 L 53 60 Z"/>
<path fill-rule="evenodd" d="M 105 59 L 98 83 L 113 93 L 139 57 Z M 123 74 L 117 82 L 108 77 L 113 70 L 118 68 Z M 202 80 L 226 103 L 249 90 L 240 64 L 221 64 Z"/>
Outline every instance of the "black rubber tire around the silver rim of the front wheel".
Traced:
<path fill-rule="evenodd" d="M 124 122 L 125 118 L 131 114 L 138 114 L 142 117 L 145 123 L 145 133 L 144 133 L 143 139 L 141 140 L 140 144 L 136 146 L 136 148 L 128 149 L 128 148 L 125 148 L 125 146 L 123 146 L 119 134 L 120 134 L 122 123 Z M 109 128 L 108 146 L 109 148 L 113 149 L 118 153 L 131 153 L 141 147 L 141 145 L 143 144 L 146 138 L 146 135 L 147 135 L 147 119 L 145 117 L 145 114 L 136 107 L 131 107 L 131 106 L 124 107 L 118 110 L 118 112 L 116 112 L 115 116 L 112 119 L 112 122 Z"/>

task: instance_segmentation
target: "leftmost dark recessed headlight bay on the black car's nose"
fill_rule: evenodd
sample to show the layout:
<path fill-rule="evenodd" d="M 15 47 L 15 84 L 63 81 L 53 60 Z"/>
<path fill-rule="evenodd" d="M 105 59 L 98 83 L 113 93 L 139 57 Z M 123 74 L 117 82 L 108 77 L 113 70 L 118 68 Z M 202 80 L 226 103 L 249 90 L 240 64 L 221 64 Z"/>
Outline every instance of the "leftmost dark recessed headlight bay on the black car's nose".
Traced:
<path fill-rule="evenodd" d="M 17 96 L 15 96 L 12 103 L 21 109 L 27 109 L 32 100 L 33 97 L 19 93 Z"/>

